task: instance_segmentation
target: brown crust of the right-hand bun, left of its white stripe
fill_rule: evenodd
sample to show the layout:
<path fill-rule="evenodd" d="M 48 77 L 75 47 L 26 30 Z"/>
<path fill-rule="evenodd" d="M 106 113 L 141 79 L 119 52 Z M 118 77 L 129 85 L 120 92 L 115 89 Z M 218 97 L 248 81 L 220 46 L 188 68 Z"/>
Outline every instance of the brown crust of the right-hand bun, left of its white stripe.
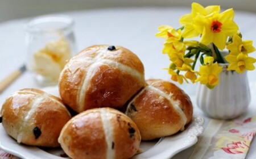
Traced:
<path fill-rule="evenodd" d="M 168 136 L 182 127 L 181 116 L 171 103 L 153 91 L 144 91 L 134 106 L 137 111 L 129 116 L 137 124 L 142 140 Z"/>

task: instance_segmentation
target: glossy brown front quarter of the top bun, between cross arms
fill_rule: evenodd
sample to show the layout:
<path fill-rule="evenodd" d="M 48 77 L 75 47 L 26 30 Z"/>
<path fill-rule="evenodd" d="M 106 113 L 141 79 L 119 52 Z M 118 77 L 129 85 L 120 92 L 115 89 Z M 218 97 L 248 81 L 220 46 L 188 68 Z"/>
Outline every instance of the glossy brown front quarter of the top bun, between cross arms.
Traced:
<path fill-rule="evenodd" d="M 122 108 L 123 104 L 134 95 L 134 90 L 139 90 L 141 87 L 142 83 L 130 74 L 112 66 L 101 65 L 90 80 L 84 109 Z"/>

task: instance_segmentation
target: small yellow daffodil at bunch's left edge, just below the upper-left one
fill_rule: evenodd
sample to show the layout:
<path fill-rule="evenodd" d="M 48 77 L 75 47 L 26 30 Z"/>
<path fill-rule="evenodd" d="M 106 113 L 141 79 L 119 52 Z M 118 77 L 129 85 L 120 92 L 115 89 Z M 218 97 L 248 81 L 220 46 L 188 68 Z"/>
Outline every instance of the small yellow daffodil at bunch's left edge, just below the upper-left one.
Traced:
<path fill-rule="evenodd" d="M 163 53 L 182 53 L 184 54 L 186 50 L 186 45 L 179 41 L 174 41 L 172 43 L 164 43 Z"/>

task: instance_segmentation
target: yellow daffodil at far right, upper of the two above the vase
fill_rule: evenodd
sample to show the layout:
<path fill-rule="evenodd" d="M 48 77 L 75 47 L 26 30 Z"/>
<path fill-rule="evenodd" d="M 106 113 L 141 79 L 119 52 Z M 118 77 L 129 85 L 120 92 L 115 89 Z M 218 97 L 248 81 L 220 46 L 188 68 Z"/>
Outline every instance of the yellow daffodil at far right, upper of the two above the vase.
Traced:
<path fill-rule="evenodd" d="M 236 34 L 233 35 L 232 41 L 231 44 L 226 46 L 230 51 L 230 55 L 238 55 L 240 52 L 247 54 L 255 51 L 251 40 L 242 41 L 241 37 Z"/>

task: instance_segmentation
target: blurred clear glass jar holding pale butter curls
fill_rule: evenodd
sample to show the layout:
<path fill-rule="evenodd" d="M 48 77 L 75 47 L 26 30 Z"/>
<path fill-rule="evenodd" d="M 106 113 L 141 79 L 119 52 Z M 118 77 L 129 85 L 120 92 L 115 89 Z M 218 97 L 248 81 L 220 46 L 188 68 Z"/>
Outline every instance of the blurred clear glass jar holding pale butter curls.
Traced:
<path fill-rule="evenodd" d="M 27 23 L 26 67 L 39 85 L 56 85 L 65 63 L 76 53 L 73 26 L 66 15 L 38 16 Z"/>

